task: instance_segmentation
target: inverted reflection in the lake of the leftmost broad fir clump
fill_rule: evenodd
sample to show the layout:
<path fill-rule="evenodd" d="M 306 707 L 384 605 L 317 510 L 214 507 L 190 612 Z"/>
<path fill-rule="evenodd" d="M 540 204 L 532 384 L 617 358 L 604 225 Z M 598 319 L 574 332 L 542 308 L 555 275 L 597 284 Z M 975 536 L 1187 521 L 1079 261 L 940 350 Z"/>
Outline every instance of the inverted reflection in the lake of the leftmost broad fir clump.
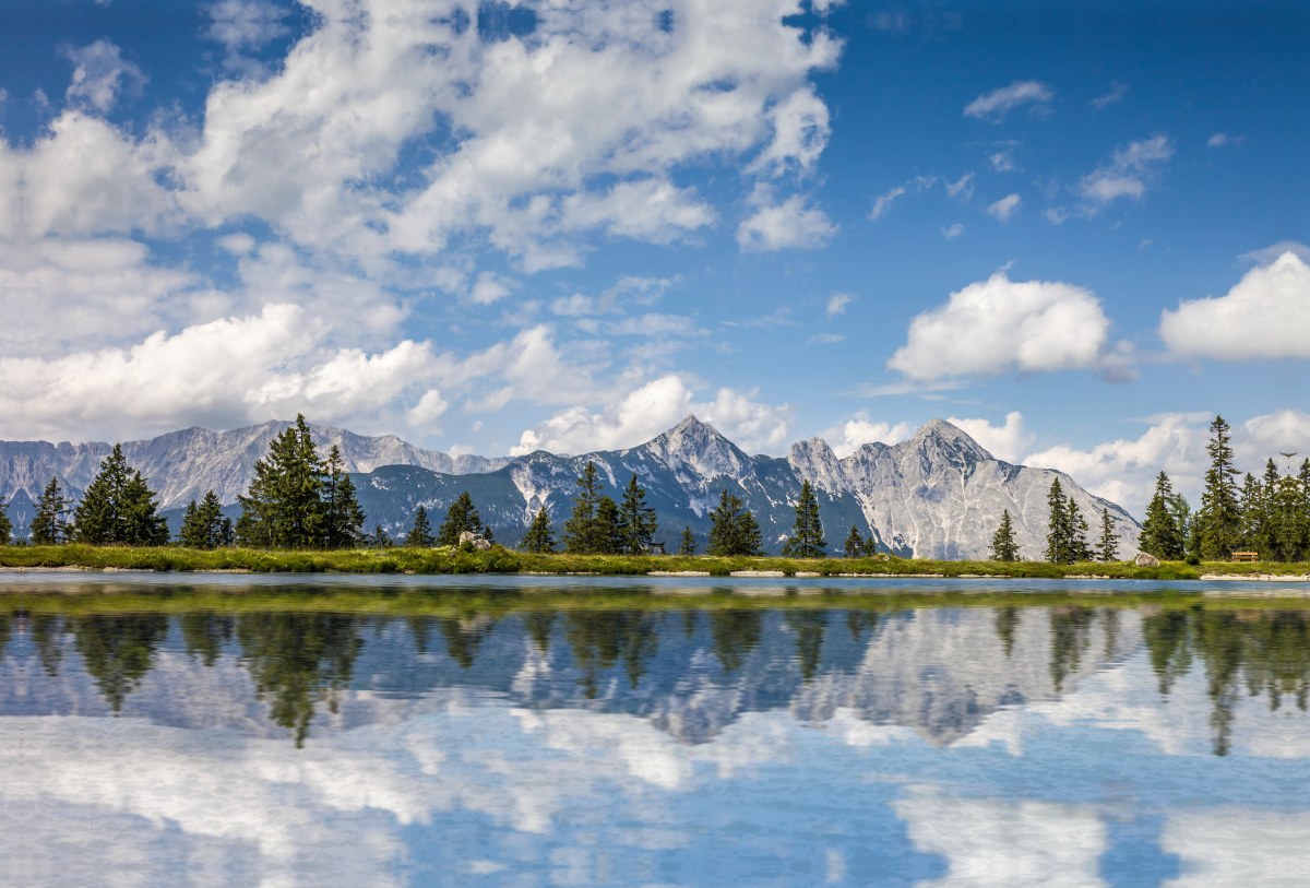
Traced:
<path fill-rule="evenodd" d="M 73 647 L 83 668 L 105 695 L 114 712 L 136 690 L 155 663 L 155 648 L 168 635 L 164 614 L 114 614 L 75 617 Z"/>

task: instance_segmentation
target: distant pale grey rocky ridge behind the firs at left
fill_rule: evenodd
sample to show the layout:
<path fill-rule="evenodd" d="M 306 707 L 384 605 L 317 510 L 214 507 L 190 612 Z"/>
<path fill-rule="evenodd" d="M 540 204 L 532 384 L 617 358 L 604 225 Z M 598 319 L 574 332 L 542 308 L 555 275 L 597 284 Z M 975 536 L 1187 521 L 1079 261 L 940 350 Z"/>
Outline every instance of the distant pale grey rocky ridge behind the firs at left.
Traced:
<path fill-rule="evenodd" d="M 271 420 L 259 426 L 212 432 L 207 428 L 185 428 L 144 441 L 127 441 L 123 454 L 139 469 L 160 494 L 165 509 L 185 507 L 193 498 L 214 490 L 223 503 L 234 503 L 244 494 L 254 464 L 269 452 L 269 444 L 290 420 Z M 326 453 L 338 445 L 347 472 L 372 472 L 385 465 L 413 465 L 447 474 L 476 474 L 499 469 L 508 457 L 451 456 L 424 451 L 402 441 L 396 435 L 369 437 L 345 428 L 314 426 L 314 443 Z M 75 495 L 90 483 L 100 462 L 113 445 L 105 443 L 50 444 L 48 441 L 0 441 L 0 496 L 35 499 L 50 478 L 58 477 Z"/>

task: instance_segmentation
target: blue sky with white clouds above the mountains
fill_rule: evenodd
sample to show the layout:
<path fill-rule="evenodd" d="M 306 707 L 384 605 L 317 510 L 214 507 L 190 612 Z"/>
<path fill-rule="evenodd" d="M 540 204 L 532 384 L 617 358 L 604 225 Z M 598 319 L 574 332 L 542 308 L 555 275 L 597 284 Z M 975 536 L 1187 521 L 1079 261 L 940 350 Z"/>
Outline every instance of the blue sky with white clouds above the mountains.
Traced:
<path fill-rule="evenodd" d="M 1310 454 L 1292 3 L 0 0 L 0 437 Z"/>

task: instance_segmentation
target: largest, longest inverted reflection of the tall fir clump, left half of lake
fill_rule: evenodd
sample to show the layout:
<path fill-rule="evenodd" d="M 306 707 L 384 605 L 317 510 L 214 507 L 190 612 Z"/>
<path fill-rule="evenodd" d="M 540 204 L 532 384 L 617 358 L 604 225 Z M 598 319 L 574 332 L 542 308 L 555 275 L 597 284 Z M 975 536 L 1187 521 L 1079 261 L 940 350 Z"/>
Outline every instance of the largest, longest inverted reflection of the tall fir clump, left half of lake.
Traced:
<path fill-rule="evenodd" d="M 337 711 L 363 639 L 359 620 L 334 613 L 255 613 L 237 621 L 237 640 L 269 718 L 304 745 L 314 707 Z"/>

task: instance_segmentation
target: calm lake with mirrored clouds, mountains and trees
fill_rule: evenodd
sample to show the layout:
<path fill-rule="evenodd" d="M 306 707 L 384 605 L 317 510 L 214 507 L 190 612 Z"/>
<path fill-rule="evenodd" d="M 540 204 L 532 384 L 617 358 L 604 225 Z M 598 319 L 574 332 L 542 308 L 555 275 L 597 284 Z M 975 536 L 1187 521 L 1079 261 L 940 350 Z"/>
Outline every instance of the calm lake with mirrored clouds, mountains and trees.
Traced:
<path fill-rule="evenodd" d="M 1210 591 L 0 575 L 0 880 L 1310 884 L 1310 600 Z"/>

